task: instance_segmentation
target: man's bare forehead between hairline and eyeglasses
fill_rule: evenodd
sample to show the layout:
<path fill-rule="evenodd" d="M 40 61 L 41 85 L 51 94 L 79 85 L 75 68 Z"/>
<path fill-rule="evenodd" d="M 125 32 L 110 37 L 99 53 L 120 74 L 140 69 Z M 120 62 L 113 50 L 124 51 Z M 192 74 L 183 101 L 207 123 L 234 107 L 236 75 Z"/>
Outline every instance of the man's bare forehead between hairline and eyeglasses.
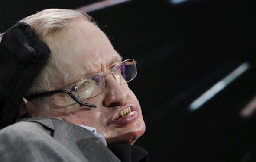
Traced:
<path fill-rule="evenodd" d="M 67 81 L 70 77 L 79 79 L 84 75 L 105 72 L 122 60 L 107 36 L 86 20 L 75 22 L 54 35 L 50 49 L 57 53 L 52 60 Z"/>

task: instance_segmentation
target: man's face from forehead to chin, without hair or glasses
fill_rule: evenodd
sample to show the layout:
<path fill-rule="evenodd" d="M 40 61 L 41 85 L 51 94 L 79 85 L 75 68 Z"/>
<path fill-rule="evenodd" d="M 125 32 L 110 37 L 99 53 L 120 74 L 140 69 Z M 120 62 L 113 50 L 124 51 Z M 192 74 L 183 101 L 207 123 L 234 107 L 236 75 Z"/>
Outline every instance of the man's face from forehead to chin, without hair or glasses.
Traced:
<path fill-rule="evenodd" d="M 51 42 L 49 47 L 58 53 L 58 58 L 53 60 L 57 62 L 57 69 L 62 76 L 62 79 L 56 78 L 53 81 L 51 90 L 68 87 L 87 75 L 107 73 L 122 61 L 106 35 L 84 20 L 55 34 Z M 50 97 L 50 112 L 42 114 L 54 114 L 53 116 L 71 123 L 94 127 L 105 137 L 108 145 L 133 144 L 145 131 L 136 96 L 127 83 L 118 84 L 113 75 L 105 78 L 103 93 L 84 102 L 95 104 L 97 108 L 80 107 L 67 94 L 55 94 Z M 132 112 L 120 118 L 120 111 L 129 107 Z"/>

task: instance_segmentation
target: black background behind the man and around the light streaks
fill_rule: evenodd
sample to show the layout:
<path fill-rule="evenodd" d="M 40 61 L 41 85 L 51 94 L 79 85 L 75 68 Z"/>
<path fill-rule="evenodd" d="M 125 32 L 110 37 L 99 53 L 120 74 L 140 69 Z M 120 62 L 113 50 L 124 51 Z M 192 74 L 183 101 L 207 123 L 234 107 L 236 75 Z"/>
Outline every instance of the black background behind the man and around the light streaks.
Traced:
<path fill-rule="evenodd" d="M 4 1 L 0 32 L 42 9 L 96 1 Z M 129 85 L 147 128 L 135 144 L 150 162 L 256 162 L 256 117 L 240 117 L 256 95 L 253 0 L 132 0 L 89 15 L 124 59 L 138 62 Z M 250 65 L 245 73 L 199 109 L 188 109 L 243 62 Z"/>

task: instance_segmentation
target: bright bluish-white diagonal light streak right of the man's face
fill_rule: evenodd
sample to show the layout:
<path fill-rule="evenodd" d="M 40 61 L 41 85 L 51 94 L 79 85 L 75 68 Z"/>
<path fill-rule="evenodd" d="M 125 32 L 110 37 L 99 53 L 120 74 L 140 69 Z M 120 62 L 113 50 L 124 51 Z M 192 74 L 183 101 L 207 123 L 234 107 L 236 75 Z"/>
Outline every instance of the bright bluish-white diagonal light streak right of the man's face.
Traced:
<path fill-rule="evenodd" d="M 242 65 L 238 66 L 237 69 L 235 69 L 233 72 L 231 72 L 225 78 L 223 78 L 221 81 L 217 82 L 217 84 L 215 84 L 213 87 L 211 87 L 205 93 L 203 93 L 200 97 L 198 97 L 196 100 L 194 100 L 190 104 L 189 109 L 191 111 L 194 111 L 194 110 L 198 109 L 199 107 L 201 107 L 204 103 L 206 103 L 208 100 L 210 100 L 212 97 L 214 97 L 215 94 L 217 94 L 218 92 L 223 90 L 228 84 L 230 84 L 237 77 L 239 77 L 244 72 L 246 72 L 246 70 L 249 68 L 250 68 L 250 64 L 248 62 L 244 62 Z"/>

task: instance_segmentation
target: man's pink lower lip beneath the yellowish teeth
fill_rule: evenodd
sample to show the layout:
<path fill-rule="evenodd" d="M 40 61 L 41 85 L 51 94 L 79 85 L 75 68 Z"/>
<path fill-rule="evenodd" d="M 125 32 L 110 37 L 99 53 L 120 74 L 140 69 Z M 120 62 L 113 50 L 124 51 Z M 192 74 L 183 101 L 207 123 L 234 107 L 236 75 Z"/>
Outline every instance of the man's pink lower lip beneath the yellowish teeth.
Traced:
<path fill-rule="evenodd" d="M 128 115 L 123 116 L 122 118 L 119 118 L 117 120 L 110 121 L 110 125 L 116 125 L 117 127 L 124 127 L 126 125 L 129 125 L 133 121 L 138 118 L 139 112 L 132 111 Z"/>

